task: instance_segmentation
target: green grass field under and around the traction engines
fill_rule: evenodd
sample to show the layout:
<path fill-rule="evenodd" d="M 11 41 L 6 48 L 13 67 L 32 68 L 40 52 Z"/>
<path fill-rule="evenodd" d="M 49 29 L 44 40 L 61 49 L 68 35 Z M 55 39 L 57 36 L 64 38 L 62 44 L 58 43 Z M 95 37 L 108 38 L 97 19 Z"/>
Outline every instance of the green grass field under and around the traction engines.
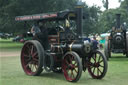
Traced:
<path fill-rule="evenodd" d="M 0 53 L 16 53 L 23 44 L 0 40 Z M 0 55 L 1 56 L 1 55 Z M 128 85 L 128 58 L 113 54 L 108 61 L 108 72 L 102 80 L 92 79 L 83 72 L 77 83 L 67 82 L 63 74 L 42 72 L 40 76 L 27 76 L 22 70 L 20 56 L 0 57 L 0 85 Z"/>

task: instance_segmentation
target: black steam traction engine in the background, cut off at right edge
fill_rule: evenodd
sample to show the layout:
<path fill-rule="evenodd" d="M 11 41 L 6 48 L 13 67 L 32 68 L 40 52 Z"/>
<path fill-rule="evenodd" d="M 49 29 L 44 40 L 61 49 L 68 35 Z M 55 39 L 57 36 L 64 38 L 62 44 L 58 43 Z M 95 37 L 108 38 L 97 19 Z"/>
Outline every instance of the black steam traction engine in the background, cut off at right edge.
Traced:
<path fill-rule="evenodd" d="M 126 28 L 120 25 L 120 14 L 116 14 L 116 27 L 112 28 L 105 43 L 105 55 L 108 58 L 113 53 L 123 53 L 128 57 L 128 34 Z"/>

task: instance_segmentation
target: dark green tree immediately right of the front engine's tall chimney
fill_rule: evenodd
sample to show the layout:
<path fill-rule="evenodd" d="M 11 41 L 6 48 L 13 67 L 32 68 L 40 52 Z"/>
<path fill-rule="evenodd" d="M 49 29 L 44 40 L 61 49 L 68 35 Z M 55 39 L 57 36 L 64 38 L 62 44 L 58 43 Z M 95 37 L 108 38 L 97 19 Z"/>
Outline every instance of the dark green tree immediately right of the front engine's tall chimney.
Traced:
<path fill-rule="evenodd" d="M 99 17 L 101 14 L 101 10 L 97 6 L 88 7 L 87 5 L 84 8 L 84 12 L 87 13 L 84 20 L 84 33 L 88 34 L 96 34 L 100 33 L 99 31 Z"/>

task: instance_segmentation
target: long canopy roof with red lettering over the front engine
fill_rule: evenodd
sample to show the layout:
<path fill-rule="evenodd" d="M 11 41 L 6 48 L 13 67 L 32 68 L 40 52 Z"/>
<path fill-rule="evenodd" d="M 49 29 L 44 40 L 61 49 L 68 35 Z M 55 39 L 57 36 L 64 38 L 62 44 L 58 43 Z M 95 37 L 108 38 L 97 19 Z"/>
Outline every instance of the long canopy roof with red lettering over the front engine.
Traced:
<path fill-rule="evenodd" d="M 16 16 L 16 21 L 30 21 L 30 20 L 63 20 L 70 16 L 70 18 L 76 18 L 74 11 L 60 11 L 56 13 L 41 13 L 33 15 Z"/>

